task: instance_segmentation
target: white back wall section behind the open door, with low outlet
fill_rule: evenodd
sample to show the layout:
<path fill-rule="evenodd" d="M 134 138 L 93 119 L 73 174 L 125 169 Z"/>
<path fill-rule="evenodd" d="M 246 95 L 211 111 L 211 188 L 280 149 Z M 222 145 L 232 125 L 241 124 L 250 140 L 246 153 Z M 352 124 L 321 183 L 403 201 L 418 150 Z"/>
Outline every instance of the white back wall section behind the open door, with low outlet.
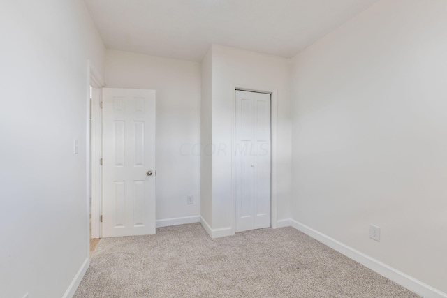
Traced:
<path fill-rule="evenodd" d="M 200 215 L 200 81 L 195 62 L 105 51 L 106 87 L 156 91 L 157 220 Z"/>

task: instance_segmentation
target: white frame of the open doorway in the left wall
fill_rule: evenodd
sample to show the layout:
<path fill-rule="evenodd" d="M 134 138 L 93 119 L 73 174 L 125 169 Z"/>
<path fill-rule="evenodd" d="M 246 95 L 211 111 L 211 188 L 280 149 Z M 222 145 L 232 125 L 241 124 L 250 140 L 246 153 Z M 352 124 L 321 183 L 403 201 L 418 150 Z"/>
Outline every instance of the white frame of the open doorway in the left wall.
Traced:
<path fill-rule="evenodd" d="M 90 86 L 93 87 L 92 98 L 91 98 L 91 130 L 90 121 L 88 121 L 87 126 L 87 158 L 91 158 L 91 177 L 88 177 L 88 188 L 91 187 L 91 235 L 89 229 L 89 239 L 88 243 L 90 245 L 90 238 L 101 238 L 101 196 L 102 196 L 102 170 L 100 165 L 100 159 L 102 157 L 102 88 L 104 86 L 104 81 L 101 75 L 98 73 L 96 68 L 90 61 L 88 64 L 88 75 L 89 75 L 89 89 Z M 89 100 L 90 102 L 90 100 Z M 88 107 L 89 108 L 89 107 Z M 90 152 L 90 131 L 91 131 L 91 152 Z M 89 161 L 87 161 L 87 166 Z M 87 195 L 89 197 L 89 194 Z M 89 201 L 89 198 L 87 199 Z M 89 206 L 87 206 L 89 209 Z M 89 227 L 88 227 L 89 228 Z M 90 251 L 90 248 L 89 248 Z"/>

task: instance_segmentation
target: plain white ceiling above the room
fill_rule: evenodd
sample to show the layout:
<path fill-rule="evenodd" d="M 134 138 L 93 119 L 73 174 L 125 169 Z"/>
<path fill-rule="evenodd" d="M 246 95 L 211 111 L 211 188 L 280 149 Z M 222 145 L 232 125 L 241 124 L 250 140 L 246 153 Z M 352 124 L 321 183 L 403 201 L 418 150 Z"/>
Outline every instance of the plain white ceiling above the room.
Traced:
<path fill-rule="evenodd" d="M 112 50 L 201 61 L 212 43 L 293 57 L 378 0 L 85 0 Z"/>

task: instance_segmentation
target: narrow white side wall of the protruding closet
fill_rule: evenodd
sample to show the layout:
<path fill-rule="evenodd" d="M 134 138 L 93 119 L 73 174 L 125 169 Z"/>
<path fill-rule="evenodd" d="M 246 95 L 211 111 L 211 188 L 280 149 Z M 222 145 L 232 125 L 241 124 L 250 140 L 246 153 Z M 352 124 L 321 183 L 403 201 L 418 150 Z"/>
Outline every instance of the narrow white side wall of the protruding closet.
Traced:
<path fill-rule="evenodd" d="M 212 225 L 212 47 L 202 61 L 200 143 L 200 216 Z"/>

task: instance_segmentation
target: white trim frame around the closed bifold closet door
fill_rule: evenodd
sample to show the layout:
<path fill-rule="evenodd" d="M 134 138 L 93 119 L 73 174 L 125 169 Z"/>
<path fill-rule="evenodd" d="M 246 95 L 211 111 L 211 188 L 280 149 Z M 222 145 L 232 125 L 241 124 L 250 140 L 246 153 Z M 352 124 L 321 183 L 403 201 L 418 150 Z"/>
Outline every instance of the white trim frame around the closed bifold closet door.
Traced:
<path fill-rule="evenodd" d="M 236 90 L 252 91 L 270 94 L 270 130 L 271 130 L 271 175 L 270 175 L 270 225 L 277 228 L 277 131 L 278 131 L 278 88 L 269 86 L 254 86 L 233 84 L 233 115 L 231 121 L 231 200 L 232 227 L 231 234 L 236 233 Z"/>

